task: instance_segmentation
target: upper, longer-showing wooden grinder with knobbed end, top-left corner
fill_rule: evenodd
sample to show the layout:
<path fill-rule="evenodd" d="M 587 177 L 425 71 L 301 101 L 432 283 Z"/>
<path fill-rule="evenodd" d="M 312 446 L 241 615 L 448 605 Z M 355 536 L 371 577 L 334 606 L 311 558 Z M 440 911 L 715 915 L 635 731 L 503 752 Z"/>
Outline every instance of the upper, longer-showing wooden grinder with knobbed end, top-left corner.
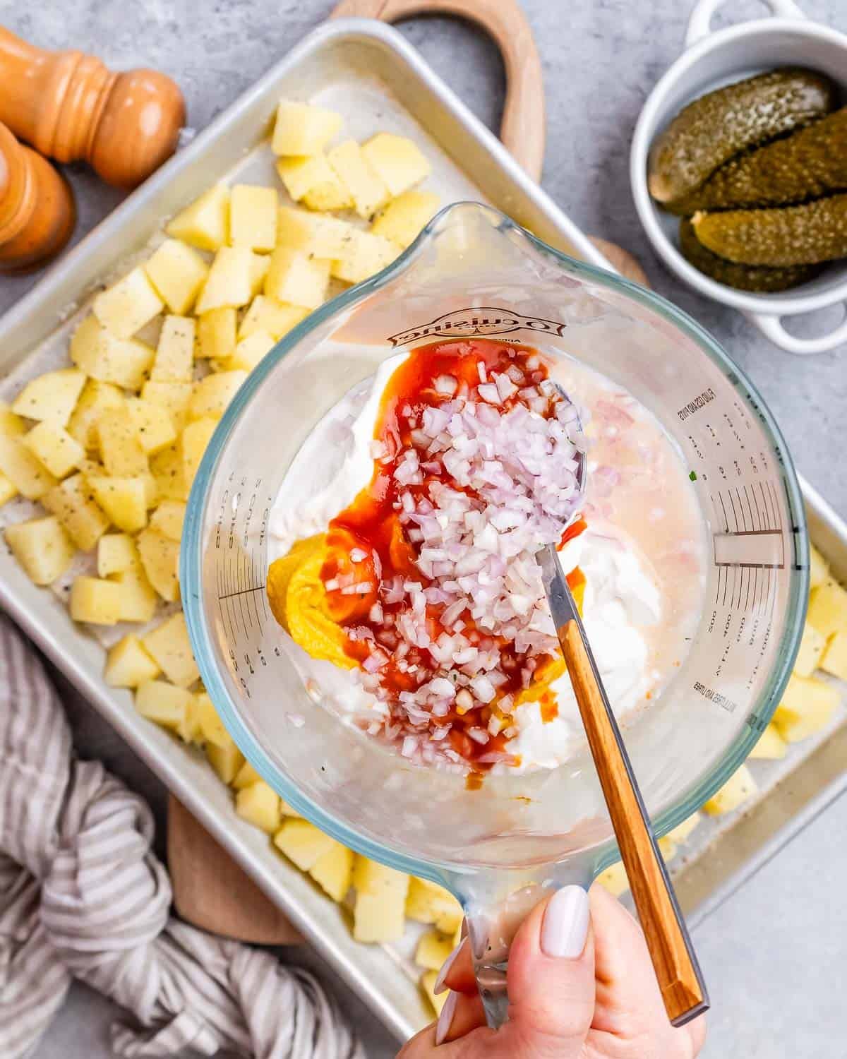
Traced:
<path fill-rule="evenodd" d="M 0 28 L 0 121 L 42 155 L 85 159 L 130 189 L 173 155 L 185 103 L 156 70 L 113 73 L 93 55 L 43 51 Z"/>

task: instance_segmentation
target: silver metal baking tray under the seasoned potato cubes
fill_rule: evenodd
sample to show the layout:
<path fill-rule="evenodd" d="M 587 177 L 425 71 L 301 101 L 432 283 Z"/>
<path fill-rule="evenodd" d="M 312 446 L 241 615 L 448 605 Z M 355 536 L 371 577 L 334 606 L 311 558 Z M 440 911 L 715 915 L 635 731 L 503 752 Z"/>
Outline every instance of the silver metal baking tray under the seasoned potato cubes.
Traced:
<path fill-rule="evenodd" d="M 459 198 L 488 201 L 510 214 L 545 241 L 576 257 L 605 266 L 589 239 L 533 183 L 499 141 L 467 110 L 392 29 L 370 20 L 339 20 L 310 34 L 250 91 L 220 114 L 187 147 L 131 195 L 107 220 L 62 258 L 0 321 L 0 399 L 15 393 L 26 378 L 65 362 L 67 342 L 91 297 L 111 276 L 149 251 L 162 220 L 215 180 L 267 180 L 272 159 L 267 147 L 276 102 L 283 95 L 311 100 L 343 113 L 345 128 L 363 139 L 378 130 L 415 137 L 429 157 L 433 175 L 428 186 L 444 202 Z M 847 579 L 847 527 L 812 490 L 807 489 L 810 524 L 833 569 Z M 16 506 L 17 505 L 17 506 Z M 0 511 L 0 523 L 24 517 L 25 505 L 13 502 Z M 364 999 L 400 1039 L 429 1022 L 431 1011 L 417 987 L 419 971 L 411 962 L 415 931 L 403 944 L 362 946 L 353 940 L 349 916 L 312 882 L 272 849 L 267 837 L 239 820 L 230 792 L 202 755 L 145 721 L 125 692 L 102 681 L 103 647 L 70 621 L 55 594 L 35 588 L 14 559 L 0 550 L 0 605 L 68 675 L 134 751 L 150 766 L 217 841 L 285 911 L 305 937 Z M 806 743 L 787 762 L 804 778 L 810 797 L 824 798 L 834 769 L 816 769 L 818 754 Z M 842 744 L 847 741 L 847 735 Z M 810 743 L 812 741 L 810 740 Z M 811 765 L 807 759 L 812 751 Z M 837 761 L 839 755 L 831 755 Z M 763 762 L 767 764 L 768 762 Z M 782 779 L 787 789 L 788 779 Z M 762 785 L 764 789 L 764 784 Z M 780 788 L 777 788 L 777 792 Z M 795 814 L 811 805 L 788 800 L 780 820 L 757 844 L 754 811 L 740 820 L 726 818 L 710 833 L 714 855 L 695 832 L 678 869 L 686 905 L 716 901 L 732 882 L 731 872 L 747 873 L 768 854 L 767 842 L 783 841 Z M 761 803 L 767 815 L 771 798 Z M 779 816 L 774 812 L 772 815 Z M 770 822 L 770 821 L 769 821 Z M 747 830 L 753 828 L 753 833 Z M 705 833 L 705 832 L 704 832 Z M 729 856 L 736 834 L 737 857 Z M 753 860 L 747 856 L 753 854 Z M 702 867 L 701 867 L 702 864 Z M 709 864 L 714 868 L 709 868 Z M 726 870 L 722 870 L 722 865 Z"/>

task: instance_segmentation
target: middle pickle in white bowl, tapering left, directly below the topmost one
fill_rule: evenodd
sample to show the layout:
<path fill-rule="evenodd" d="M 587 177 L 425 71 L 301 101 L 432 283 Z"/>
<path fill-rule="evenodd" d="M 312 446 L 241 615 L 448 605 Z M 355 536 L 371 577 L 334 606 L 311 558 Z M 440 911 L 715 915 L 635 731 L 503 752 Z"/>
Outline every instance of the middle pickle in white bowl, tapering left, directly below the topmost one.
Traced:
<path fill-rule="evenodd" d="M 785 140 L 734 158 L 691 195 L 667 202 L 697 210 L 790 205 L 847 189 L 847 107 Z"/>

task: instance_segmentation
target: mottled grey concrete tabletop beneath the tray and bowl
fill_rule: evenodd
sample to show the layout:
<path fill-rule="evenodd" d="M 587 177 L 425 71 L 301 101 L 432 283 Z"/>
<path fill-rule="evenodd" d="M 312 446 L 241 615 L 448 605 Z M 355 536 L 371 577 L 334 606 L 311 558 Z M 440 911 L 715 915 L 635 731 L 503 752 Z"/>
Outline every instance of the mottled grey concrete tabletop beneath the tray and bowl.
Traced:
<path fill-rule="evenodd" d="M 843 0 L 800 0 L 815 19 L 847 31 Z M 847 349 L 797 358 L 771 346 L 739 315 L 673 281 L 648 249 L 629 193 L 629 142 L 638 110 L 681 48 L 687 0 L 524 0 L 544 65 L 547 97 L 545 189 L 588 232 L 636 253 L 654 287 L 692 313 L 752 375 L 775 412 L 798 468 L 842 513 L 847 510 Z M 35 7 L 0 0 L 0 22 L 49 48 L 82 47 L 115 68 L 155 66 L 176 77 L 188 122 L 201 128 L 330 10 L 327 0 L 44 0 Z M 734 20 L 761 14 L 734 0 Z M 719 17 L 719 23 L 723 21 Z M 474 29 L 440 18 L 402 32 L 489 125 L 503 102 L 494 48 Z M 120 201 L 84 167 L 69 167 L 79 205 L 76 238 Z M 0 281 L 5 308 L 36 277 Z M 841 309 L 792 324 L 819 334 Z M 78 697 L 69 702 L 79 751 L 104 757 L 161 810 L 156 778 Z M 842 838 L 847 803 L 785 849 L 698 930 L 714 1010 L 706 1059 L 843 1059 L 840 982 L 847 956 Z M 368 1054 L 386 1059 L 394 1043 L 345 994 Z M 79 987 L 36 1049 L 36 1059 L 105 1059 L 114 1010 Z"/>

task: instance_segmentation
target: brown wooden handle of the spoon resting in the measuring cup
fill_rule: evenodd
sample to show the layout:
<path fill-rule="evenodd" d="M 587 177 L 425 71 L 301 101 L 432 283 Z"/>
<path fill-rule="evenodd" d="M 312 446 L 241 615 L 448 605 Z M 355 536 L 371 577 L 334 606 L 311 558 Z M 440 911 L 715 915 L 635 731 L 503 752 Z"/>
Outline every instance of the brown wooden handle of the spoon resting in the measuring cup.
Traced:
<path fill-rule="evenodd" d="M 579 626 L 558 634 L 665 1009 L 680 1026 L 708 1006 L 700 968 Z"/>

